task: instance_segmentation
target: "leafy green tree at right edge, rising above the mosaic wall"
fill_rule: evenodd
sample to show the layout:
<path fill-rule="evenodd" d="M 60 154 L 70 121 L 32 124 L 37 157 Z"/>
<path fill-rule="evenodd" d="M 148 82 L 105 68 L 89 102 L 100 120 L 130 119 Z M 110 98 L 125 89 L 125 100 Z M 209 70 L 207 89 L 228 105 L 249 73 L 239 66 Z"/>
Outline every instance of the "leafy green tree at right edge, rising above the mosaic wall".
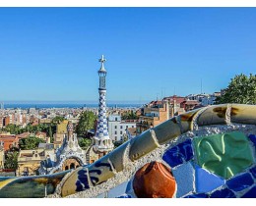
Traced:
<path fill-rule="evenodd" d="M 241 74 L 231 78 L 224 95 L 216 99 L 216 104 L 224 103 L 256 104 L 256 76 Z"/>

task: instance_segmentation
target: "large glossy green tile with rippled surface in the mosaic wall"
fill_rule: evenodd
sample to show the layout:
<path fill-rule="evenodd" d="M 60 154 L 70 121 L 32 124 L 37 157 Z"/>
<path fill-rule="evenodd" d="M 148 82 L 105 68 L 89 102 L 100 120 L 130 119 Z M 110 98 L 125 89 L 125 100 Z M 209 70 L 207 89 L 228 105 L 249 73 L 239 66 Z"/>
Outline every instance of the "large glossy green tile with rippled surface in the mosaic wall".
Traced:
<path fill-rule="evenodd" d="M 232 131 L 193 139 L 197 163 L 206 170 L 229 179 L 253 163 L 248 139 Z"/>

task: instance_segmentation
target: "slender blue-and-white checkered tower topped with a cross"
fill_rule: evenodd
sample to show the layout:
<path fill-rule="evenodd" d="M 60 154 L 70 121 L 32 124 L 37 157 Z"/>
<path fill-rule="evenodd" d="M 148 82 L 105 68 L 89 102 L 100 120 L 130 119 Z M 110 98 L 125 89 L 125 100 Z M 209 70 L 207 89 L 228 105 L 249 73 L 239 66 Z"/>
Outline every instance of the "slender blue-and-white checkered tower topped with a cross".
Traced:
<path fill-rule="evenodd" d="M 104 69 L 104 62 L 106 61 L 102 55 L 101 59 L 98 60 L 101 63 L 100 69 L 97 71 L 99 77 L 99 103 L 98 103 L 98 117 L 96 126 L 96 136 L 94 149 L 96 153 L 104 155 L 110 152 L 114 145 L 112 140 L 109 138 L 107 131 L 107 121 L 106 121 L 106 105 L 105 105 L 105 77 L 106 70 Z"/>

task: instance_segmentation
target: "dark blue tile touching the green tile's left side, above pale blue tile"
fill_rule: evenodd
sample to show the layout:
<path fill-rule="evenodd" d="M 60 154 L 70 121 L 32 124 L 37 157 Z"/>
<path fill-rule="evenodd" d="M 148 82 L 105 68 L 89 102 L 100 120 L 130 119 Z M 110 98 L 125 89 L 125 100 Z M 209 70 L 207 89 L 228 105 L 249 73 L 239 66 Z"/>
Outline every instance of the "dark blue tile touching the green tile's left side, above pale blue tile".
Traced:
<path fill-rule="evenodd" d="M 162 159 L 169 164 L 171 168 L 181 165 L 193 158 L 191 139 L 171 147 L 162 156 Z"/>

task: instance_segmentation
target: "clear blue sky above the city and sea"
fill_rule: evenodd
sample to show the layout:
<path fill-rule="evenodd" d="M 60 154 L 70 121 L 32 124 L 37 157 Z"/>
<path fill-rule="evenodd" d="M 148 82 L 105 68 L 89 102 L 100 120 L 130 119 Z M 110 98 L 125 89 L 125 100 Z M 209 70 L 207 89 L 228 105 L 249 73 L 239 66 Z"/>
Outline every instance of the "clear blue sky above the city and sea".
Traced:
<path fill-rule="evenodd" d="M 256 8 L 0 8 L 0 101 L 213 93 L 256 71 Z"/>

